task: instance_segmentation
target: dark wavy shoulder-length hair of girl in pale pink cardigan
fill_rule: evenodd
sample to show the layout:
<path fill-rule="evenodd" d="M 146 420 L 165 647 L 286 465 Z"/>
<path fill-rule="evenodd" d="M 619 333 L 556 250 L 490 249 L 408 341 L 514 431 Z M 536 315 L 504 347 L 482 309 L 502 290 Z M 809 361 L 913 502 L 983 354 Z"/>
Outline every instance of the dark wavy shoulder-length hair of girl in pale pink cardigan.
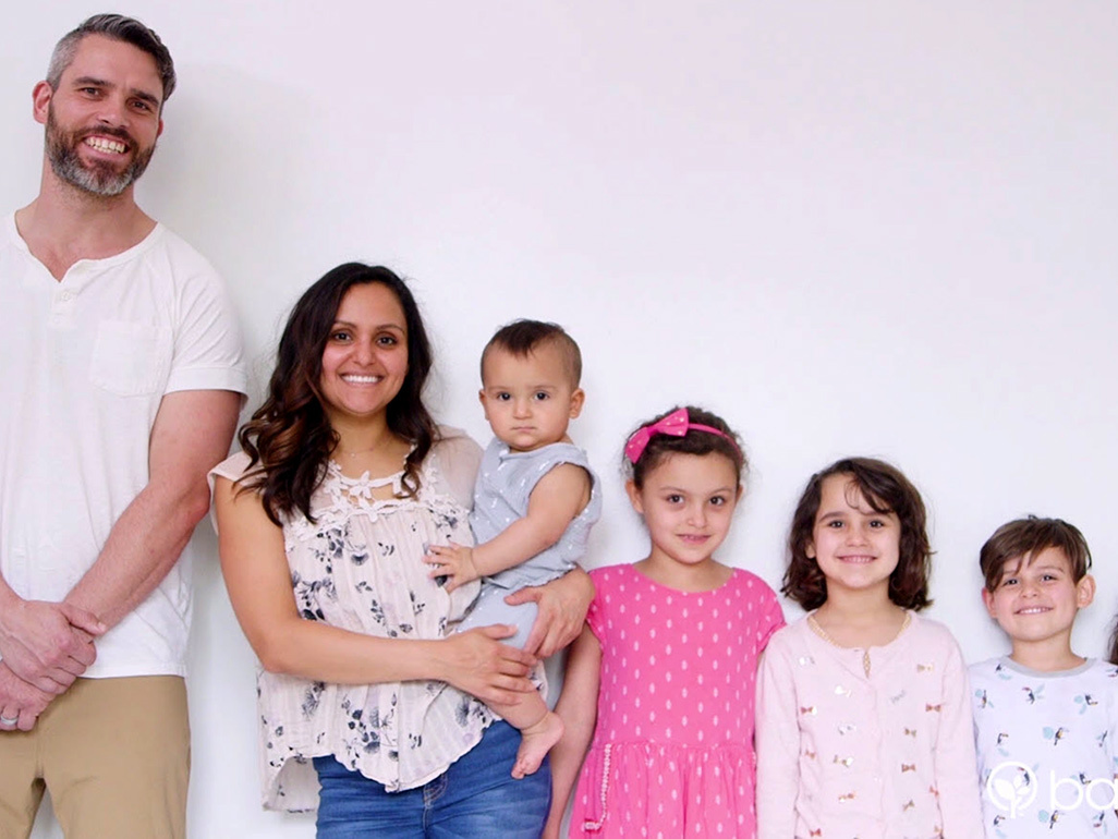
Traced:
<path fill-rule="evenodd" d="M 928 597 L 931 545 L 923 499 L 899 469 L 873 458 L 844 458 L 808 480 L 792 517 L 788 569 L 784 574 L 781 593 L 807 610 L 826 603 L 827 578 L 818 563 L 807 555 L 807 548 L 814 538 L 823 482 L 832 475 L 849 478 L 874 511 L 896 512 L 900 519 L 900 559 L 889 575 L 889 600 L 917 612 L 931 605 Z"/>

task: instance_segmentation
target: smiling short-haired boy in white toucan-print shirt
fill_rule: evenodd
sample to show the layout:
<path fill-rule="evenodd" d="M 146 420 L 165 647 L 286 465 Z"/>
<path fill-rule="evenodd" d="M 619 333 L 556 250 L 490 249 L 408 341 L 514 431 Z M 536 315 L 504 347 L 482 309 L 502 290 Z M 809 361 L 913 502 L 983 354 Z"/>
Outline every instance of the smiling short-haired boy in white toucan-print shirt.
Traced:
<path fill-rule="evenodd" d="M 1095 597 L 1087 540 L 1060 519 L 1018 519 L 979 564 L 983 602 L 1013 643 L 970 668 L 986 837 L 1115 836 L 1118 668 L 1071 649 Z"/>

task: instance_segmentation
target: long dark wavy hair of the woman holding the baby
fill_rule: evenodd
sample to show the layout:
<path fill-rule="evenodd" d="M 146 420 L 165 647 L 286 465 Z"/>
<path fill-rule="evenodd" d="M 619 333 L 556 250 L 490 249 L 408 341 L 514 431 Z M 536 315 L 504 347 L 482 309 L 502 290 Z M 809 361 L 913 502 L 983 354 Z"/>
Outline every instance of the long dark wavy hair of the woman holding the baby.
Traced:
<path fill-rule="evenodd" d="M 240 490 L 263 496 L 268 518 L 281 525 L 281 516 L 294 511 L 311 521 L 311 493 L 325 477 L 326 462 L 338 445 L 320 390 L 322 352 L 338 315 L 342 298 L 354 285 L 388 286 L 404 309 L 408 341 L 408 373 L 400 392 L 388 404 L 388 427 L 413 444 L 404 464 L 404 494 L 419 489 L 419 465 L 437 436 L 435 421 L 423 403 L 423 389 L 432 367 L 430 342 L 411 291 L 386 267 L 349 262 L 329 271 L 295 303 L 280 338 L 276 367 L 268 396 L 237 435 L 249 456 L 249 471 Z"/>

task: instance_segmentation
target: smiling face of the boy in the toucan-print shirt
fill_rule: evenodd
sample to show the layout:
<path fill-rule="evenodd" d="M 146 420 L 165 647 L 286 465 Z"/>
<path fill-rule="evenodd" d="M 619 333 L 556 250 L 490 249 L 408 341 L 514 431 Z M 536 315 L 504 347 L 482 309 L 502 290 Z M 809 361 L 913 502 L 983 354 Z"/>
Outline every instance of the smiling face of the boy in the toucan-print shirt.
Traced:
<path fill-rule="evenodd" d="M 991 618 L 1018 644 L 1054 642 L 1070 649 L 1071 628 L 1079 610 L 1095 597 L 1095 579 L 1076 582 L 1062 550 L 1048 547 L 1032 557 L 1013 557 L 1002 566 L 993 591 L 983 590 Z"/>

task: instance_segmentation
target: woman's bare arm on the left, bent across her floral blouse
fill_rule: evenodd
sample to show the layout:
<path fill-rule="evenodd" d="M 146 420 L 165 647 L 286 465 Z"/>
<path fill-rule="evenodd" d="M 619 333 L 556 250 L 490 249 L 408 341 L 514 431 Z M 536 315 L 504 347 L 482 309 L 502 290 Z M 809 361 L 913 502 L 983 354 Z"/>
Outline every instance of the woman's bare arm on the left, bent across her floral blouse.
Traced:
<path fill-rule="evenodd" d="M 438 679 L 485 703 L 515 703 L 533 690 L 536 659 L 499 643 L 511 626 L 483 626 L 446 639 L 375 638 L 304 620 L 295 605 L 283 530 L 260 497 L 214 488 L 221 572 L 234 612 L 265 670 L 340 685 Z"/>

